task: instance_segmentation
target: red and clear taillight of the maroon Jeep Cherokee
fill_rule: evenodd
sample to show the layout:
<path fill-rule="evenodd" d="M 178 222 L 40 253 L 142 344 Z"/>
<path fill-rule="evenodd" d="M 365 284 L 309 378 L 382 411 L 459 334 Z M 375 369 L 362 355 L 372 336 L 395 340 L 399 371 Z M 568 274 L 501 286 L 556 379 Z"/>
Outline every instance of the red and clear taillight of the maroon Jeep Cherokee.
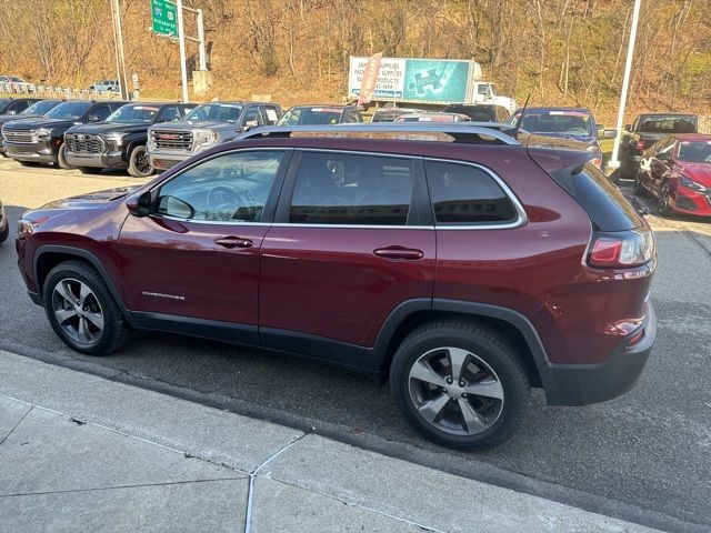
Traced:
<path fill-rule="evenodd" d="M 599 269 L 625 269 L 644 264 L 653 257 L 654 237 L 647 228 L 594 233 L 588 264 Z"/>

